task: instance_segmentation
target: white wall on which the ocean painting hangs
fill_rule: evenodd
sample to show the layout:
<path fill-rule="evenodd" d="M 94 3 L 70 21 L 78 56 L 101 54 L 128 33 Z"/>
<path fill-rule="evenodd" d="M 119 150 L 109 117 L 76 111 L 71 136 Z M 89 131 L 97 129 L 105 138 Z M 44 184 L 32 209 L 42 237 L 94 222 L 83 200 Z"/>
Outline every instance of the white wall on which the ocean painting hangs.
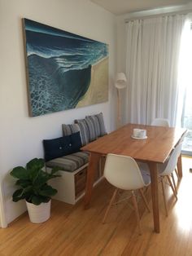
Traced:
<path fill-rule="evenodd" d="M 24 17 L 109 44 L 107 103 L 28 117 L 21 22 Z M 4 210 L 5 222 L 10 223 L 26 209 L 24 202 L 11 201 L 15 188 L 9 172 L 15 166 L 24 166 L 33 157 L 43 157 L 42 139 L 61 136 L 62 123 L 72 123 L 75 118 L 101 111 L 107 130 L 114 129 L 115 28 L 114 15 L 88 0 L 0 0 L 0 204 L 4 201 L 1 210 Z M 0 217 L 3 217 L 1 210 Z"/>

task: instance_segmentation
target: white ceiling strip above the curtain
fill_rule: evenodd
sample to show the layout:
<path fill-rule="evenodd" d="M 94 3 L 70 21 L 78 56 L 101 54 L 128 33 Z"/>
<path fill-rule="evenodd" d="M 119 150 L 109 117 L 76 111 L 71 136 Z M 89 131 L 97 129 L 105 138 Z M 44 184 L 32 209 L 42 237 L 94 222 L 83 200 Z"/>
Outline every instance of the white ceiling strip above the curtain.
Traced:
<path fill-rule="evenodd" d="M 90 0 L 115 15 L 185 5 L 189 0 Z"/>

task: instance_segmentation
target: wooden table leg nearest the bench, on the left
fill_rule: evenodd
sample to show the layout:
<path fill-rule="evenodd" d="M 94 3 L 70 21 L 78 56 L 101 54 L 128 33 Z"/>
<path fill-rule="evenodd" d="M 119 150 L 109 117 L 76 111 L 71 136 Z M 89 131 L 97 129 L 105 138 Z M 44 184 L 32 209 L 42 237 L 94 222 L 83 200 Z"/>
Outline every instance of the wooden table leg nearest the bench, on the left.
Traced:
<path fill-rule="evenodd" d="M 100 154 L 97 154 L 94 152 L 91 152 L 89 156 L 89 166 L 87 170 L 87 180 L 86 180 L 85 200 L 84 200 L 85 209 L 89 208 L 89 202 L 91 199 L 92 189 L 94 184 L 94 176 L 98 168 L 98 160 L 100 157 L 101 157 Z"/>

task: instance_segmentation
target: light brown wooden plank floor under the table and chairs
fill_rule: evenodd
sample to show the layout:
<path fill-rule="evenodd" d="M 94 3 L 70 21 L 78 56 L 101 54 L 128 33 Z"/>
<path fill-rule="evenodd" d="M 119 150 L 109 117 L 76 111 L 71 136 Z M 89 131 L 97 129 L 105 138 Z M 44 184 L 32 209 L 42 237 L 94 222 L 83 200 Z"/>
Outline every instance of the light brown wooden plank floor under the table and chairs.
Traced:
<path fill-rule="evenodd" d="M 128 204 L 114 206 L 102 224 L 113 188 L 106 182 L 94 190 L 89 210 L 82 202 L 75 206 L 52 202 L 51 218 L 33 224 L 24 214 L 8 228 L 0 229 L 0 255 L 192 255 L 192 158 L 183 157 L 184 177 L 179 184 L 178 201 L 166 186 L 168 218 L 159 188 L 161 232 L 153 232 L 152 213 L 139 201 L 142 236 Z M 160 186 L 159 186 L 160 187 Z M 151 191 L 146 193 L 151 206 Z"/>

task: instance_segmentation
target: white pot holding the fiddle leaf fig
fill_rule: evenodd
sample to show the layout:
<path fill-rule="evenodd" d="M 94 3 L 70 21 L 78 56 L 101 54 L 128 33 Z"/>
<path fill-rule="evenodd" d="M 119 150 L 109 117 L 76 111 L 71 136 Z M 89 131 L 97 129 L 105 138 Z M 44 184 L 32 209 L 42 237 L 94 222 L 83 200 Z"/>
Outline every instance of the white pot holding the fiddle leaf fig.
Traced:
<path fill-rule="evenodd" d="M 50 201 L 41 203 L 40 205 L 33 205 L 26 201 L 28 208 L 28 216 L 32 223 L 44 223 L 50 218 Z"/>

